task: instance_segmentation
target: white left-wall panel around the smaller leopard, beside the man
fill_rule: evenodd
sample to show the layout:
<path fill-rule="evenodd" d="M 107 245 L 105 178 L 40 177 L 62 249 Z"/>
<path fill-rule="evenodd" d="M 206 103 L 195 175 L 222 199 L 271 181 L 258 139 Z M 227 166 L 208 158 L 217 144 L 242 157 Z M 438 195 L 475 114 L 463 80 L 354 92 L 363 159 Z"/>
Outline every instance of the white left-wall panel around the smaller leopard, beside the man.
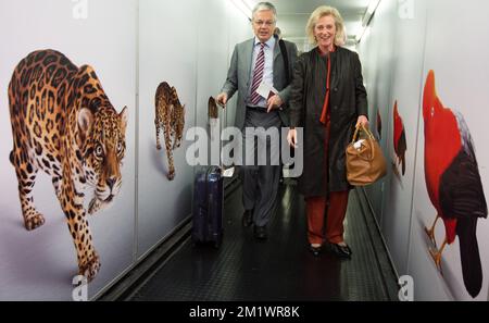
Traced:
<path fill-rule="evenodd" d="M 242 13 L 225 0 L 179 2 L 147 0 L 139 8 L 139 184 L 138 257 L 154 247 L 191 214 L 193 169 L 184 140 L 174 151 L 176 176 L 166 178 L 167 159 L 155 149 L 154 94 L 166 80 L 186 104 L 185 132 L 208 127 L 208 100 L 226 79 L 229 47 L 249 37 Z M 162 30 L 168 30 L 164 33 Z M 233 30 L 233 32 L 231 32 Z M 161 39 L 161 40 L 159 40 Z M 233 42 L 233 45 L 230 45 Z M 230 104 L 221 111 L 223 125 Z M 234 115 L 229 116 L 234 123 Z"/>

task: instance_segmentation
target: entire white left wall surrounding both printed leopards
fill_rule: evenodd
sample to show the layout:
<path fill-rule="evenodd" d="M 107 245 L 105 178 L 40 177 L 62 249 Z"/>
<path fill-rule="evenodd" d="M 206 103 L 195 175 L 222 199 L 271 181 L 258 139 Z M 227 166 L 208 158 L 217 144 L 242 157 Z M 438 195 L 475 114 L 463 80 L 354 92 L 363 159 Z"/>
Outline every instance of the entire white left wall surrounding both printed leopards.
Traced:
<path fill-rule="evenodd" d="M 47 222 L 34 232 L 23 227 L 9 161 L 7 97 L 17 62 L 30 51 L 57 49 L 78 66 L 93 66 L 117 111 L 128 107 L 122 191 L 111 209 L 89 219 L 102 264 L 88 286 L 93 298 L 191 212 L 193 169 L 185 161 L 189 142 L 175 151 L 174 182 L 164 173 L 165 152 L 155 149 L 158 85 L 166 80 L 176 87 L 187 109 L 186 129 L 203 124 L 206 99 L 225 80 L 229 51 L 251 36 L 247 18 L 226 0 L 87 1 L 86 18 L 74 18 L 74 9 L 84 2 L 0 0 L 0 300 L 70 300 L 77 273 L 64 214 L 43 173 L 38 174 L 34 196 Z"/>

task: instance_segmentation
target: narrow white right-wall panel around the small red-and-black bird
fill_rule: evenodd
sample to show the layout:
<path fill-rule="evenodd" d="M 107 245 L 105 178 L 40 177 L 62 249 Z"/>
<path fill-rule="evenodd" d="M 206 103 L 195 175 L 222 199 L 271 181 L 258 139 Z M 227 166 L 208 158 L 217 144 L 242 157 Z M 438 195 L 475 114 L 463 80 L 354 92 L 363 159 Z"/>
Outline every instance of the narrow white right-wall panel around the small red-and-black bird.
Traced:
<path fill-rule="evenodd" d="M 391 101 L 388 108 L 386 126 L 386 157 L 391 176 L 386 183 L 383 229 L 391 250 L 398 273 L 408 273 L 409 243 L 415 158 L 417 153 L 417 126 L 419 121 L 419 98 L 422 91 L 423 52 L 426 30 L 426 1 L 416 1 L 409 16 L 403 15 L 401 7 L 396 15 L 397 37 L 392 64 Z M 412 14 L 412 15 L 411 15 Z M 398 103 L 398 113 L 402 120 L 406 150 L 405 173 L 397 162 L 394 151 L 393 105 Z"/>

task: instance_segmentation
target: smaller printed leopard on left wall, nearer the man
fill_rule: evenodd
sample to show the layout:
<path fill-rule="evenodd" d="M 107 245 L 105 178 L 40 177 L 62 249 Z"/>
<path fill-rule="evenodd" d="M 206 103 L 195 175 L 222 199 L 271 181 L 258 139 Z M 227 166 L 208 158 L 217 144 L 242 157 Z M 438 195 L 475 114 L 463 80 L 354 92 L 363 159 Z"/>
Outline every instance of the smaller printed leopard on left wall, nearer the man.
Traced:
<path fill-rule="evenodd" d="M 175 178 L 175 164 L 173 150 L 180 147 L 185 127 L 185 105 L 181 105 L 177 91 L 166 82 L 160 84 L 155 95 L 156 149 L 160 150 L 160 132 L 163 128 L 165 136 L 166 156 L 168 159 L 167 178 Z"/>

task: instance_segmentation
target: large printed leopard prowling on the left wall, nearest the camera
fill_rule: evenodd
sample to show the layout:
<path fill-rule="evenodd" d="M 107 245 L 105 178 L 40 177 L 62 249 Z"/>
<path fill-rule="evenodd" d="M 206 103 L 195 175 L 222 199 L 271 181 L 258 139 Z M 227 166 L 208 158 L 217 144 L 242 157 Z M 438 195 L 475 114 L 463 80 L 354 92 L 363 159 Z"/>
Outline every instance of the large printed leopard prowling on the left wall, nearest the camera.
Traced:
<path fill-rule="evenodd" d="M 108 206 L 122 185 L 127 108 L 117 114 L 89 65 L 75 66 L 54 50 L 32 52 L 15 67 L 9 84 L 13 134 L 10 161 L 18 179 L 24 225 L 45 224 L 34 203 L 36 175 L 42 170 L 67 219 L 78 274 L 91 281 L 99 256 L 84 208 L 85 188 L 95 188 L 88 213 Z"/>

